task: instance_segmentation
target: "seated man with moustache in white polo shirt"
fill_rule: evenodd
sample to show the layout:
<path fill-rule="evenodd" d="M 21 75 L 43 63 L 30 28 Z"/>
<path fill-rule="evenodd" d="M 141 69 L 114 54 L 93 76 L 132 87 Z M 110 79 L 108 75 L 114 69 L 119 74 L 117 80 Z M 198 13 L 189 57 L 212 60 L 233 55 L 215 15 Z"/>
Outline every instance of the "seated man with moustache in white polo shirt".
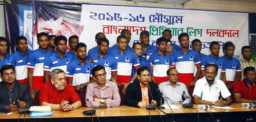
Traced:
<path fill-rule="evenodd" d="M 227 106 L 232 103 L 231 94 L 225 83 L 222 80 L 215 79 L 217 70 L 218 66 L 215 64 L 205 66 L 205 77 L 197 80 L 193 92 L 195 104 Z"/>

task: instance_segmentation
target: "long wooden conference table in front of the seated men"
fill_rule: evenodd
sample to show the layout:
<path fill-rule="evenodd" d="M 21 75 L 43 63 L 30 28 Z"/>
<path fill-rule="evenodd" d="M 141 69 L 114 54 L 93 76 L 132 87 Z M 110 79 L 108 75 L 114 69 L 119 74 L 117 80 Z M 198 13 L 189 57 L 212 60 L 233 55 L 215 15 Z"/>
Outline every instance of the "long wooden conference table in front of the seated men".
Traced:
<path fill-rule="evenodd" d="M 173 110 L 173 118 L 175 122 L 197 122 L 198 115 L 200 122 L 256 122 L 256 108 L 241 108 L 240 104 L 235 103 L 229 105 L 234 109 L 218 109 L 211 107 L 208 112 L 206 110 L 183 108 L 182 105 L 176 105 L 179 109 Z M 194 108 L 197 105 L 193 106 Z M 53 111 L 52 116 L 46 117 L 29 117 L 29 113 L 25 114 L 26 122 L 92 122 L 91 116 L 84 115 L 83 111 L 90 110 L 91 107 L 81 107 L 77 110 L 69 112 Z M 197 113 L 198 111 L 198 113 Z M 150 113 L 149 113 L 150 112 Z M 107 109 L 96 110 L 100 122 L 171 122 L 172 112 L 170 109 L 146 110 L 130 106 L 110 107 Z M 160 116 L 161 115 L 161 116 Z M 0 114 L 0 122 L 18 122 L 20 114 L 12 112 L 10 115 Z M 24 114 L 20 116 L 20 122 L 23 121 Z M 93 115 L 93 121 L 98 119 Z"/>

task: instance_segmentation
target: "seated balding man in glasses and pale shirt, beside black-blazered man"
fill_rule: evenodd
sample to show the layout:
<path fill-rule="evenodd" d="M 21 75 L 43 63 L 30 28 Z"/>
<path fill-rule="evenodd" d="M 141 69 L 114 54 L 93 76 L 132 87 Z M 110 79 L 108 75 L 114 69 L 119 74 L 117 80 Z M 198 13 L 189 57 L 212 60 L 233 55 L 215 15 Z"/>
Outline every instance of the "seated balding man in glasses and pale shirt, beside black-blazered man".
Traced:
<path fill-rule="evenodd" d="M 167 70 L 168 81 L 159 84 L 159 90 L 163 93 L 168 104 L 188 104 L 191 97 L 187 92 L 187 87 L 184 83 L 178 82 L 178 71 L 174 68 Z M 185 100 L 183 101 L 183 98 Z"/>

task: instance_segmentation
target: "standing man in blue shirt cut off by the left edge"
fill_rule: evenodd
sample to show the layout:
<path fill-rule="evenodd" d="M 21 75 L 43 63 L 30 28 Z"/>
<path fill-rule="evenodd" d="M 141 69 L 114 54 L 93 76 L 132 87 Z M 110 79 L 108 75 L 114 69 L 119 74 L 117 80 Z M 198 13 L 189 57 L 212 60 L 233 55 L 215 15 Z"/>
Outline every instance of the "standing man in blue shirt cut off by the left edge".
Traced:
<path fill-rule="evenodd" d="M 10 54 L 7 53 L 7 49 L 8 49 L 8 42 L 6 38 L 0 37 L 0 67 L 9 62 Z"/>

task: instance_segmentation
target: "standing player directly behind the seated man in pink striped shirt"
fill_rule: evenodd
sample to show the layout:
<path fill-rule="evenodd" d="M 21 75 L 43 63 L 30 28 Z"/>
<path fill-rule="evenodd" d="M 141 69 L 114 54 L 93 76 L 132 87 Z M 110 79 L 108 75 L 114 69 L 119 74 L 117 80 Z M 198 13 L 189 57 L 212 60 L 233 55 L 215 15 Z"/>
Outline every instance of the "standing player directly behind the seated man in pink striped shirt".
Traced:
<path fill-rule="evenodd" d="M 111 80 L 118 84 L 117 82 L 117 71 L 118 71 L 118 62 L 116 59 L 109 54 L 108 52 L 108 39 L 102 38 L 98 40 L 98 53 L 94 53 L 89 57 L 94 61 L 95 65 L 102 65 L 105 67 L 107 73 L 107 80 Z"/>

